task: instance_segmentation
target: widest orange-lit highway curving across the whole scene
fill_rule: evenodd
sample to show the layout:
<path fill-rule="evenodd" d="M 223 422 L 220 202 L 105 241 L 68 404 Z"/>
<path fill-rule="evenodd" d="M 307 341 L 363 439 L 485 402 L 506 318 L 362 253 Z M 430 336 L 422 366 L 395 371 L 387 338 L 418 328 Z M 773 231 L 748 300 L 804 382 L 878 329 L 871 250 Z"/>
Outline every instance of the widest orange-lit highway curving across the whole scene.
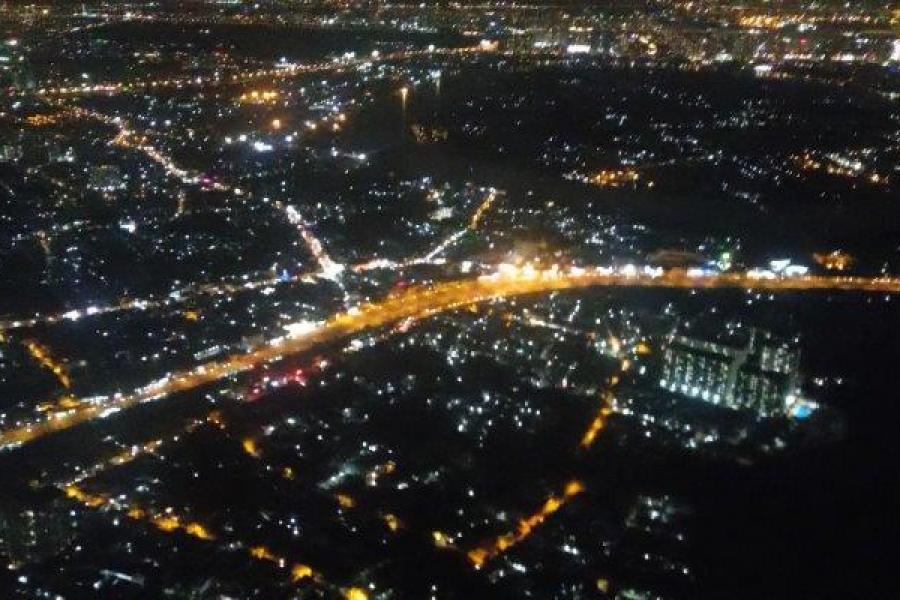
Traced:
<path fill-rule="evenodd" d="M 767 271 L 704 273 L 637 267 L 570 267 L 536 269 L 501 265 L 491 275 L 412 287 L 377 302 L 363 304 L 316 324 L 295 327 L 292 335 L 269 340 L 250 352 L 198 365 L 153 381 L 127 394 L 83 401 L 75 408 L 0 432 L 0 449 L 27 444 L 45 435 L 110 416 L 121 410 L 191 390 L 323 344 L 406 318 L 427 318 L 461 306 L 493 299 L 586 287 L 670 289 L 749 289 L 763 292 L 858 291 L 900 293 L 900 278 L 800 276 L 778 277 Z"/>

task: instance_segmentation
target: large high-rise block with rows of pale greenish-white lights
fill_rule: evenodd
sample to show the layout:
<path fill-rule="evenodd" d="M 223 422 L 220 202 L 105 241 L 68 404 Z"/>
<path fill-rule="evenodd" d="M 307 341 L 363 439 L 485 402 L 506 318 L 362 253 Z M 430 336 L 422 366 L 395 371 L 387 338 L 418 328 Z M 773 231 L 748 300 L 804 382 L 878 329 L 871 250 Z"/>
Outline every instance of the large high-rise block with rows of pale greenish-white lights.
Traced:
<path fill-rule="evenodd" d="M 712 338 L 712 339 L 710 339 Z M 715 336 L 670 336 L 663 354 L 661 388 L 761 416 L 785 414 L 799 386 L 797 340 L 730 326 Z"/>

